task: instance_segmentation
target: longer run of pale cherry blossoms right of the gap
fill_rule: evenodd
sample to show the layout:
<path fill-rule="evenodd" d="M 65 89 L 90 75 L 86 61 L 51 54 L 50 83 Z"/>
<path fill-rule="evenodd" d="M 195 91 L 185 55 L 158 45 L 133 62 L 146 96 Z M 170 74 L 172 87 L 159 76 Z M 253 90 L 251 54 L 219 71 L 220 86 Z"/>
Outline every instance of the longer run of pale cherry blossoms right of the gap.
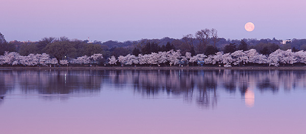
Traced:
<path fill-rule="evenodd" d="M 215 55 L 206 56 L 202 53 L 191 56 L 190 52 L 186 52 L 185 56 L 181 56 L 180 50 L 160 51 L 158 53 L 152 52 L 148 55 L 139 54 L 138 57 L 134 55 L 119 56 L 116 59 L 114 56 L 109 58 L 109 64 L 116 64 L 117 60 L 121 64 L 162 64 L 169 63 L 170 66 L 176 64 L 223 64 L 224 67 L 232 67 L 232 65 L 244 65 L 248 63 L 268 64 L 269 66 L 279 66 L 279 64 L 306 64 L 306 51 L 292 52 L 291 49 L 282 50 L 277 49 L 269 56 L 262 55 L 255 49 L 247 51 L 237 50 L 233 53 L 217 52 Z"/>

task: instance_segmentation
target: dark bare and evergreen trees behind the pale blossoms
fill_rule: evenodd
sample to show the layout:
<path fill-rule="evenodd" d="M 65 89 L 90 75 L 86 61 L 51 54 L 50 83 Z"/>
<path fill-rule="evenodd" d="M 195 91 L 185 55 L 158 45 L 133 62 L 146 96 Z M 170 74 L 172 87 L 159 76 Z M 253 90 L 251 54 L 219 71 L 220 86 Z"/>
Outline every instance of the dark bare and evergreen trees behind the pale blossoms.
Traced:
<path fill-rule="evenodd" d="M 50 59 L 56 59 L 60 64 L 61 60 L 73 61 L 83 56 L 92 56 L 100 53 L 105 58 L 99 63 L 109 62 L 109 58 L 114 56 L 132 56 L 138 57 L 140 54 L 151 55 L 151 53 L 168 52 L 170 50 L 180 50 L 181 55 L 189 52 L 191 56 L 205 55 L 215 56 L 216 53 L 234 53 L 238 50 L 247 51 L 256 50 L 259 54 L 269 57 L 271 53 L 277 49 L 297 52 L 306 50 L 306 39 L 293 39 L 285 44 L 282 40 L 271 39 L 242 39 L 230 40 L 218 37 L 215 29 L 203 29 L 195 32 L 195 34 L 184 35 L 182 39 L 162 38 L 162 39 L 141 39 L 138 41 L 107 41 L 100 42 L 89 40 L 68 39 L 67 37 L 45 37 L 39 41 L 10 41 L 7 42 L 0 33 L 0 55 L 8 55 L 8 52 L 17 52 L 20 56 L 28 57 L 31 54 L 45 53 Z M 91 61 L 93 62 L 93 61 Z"/>

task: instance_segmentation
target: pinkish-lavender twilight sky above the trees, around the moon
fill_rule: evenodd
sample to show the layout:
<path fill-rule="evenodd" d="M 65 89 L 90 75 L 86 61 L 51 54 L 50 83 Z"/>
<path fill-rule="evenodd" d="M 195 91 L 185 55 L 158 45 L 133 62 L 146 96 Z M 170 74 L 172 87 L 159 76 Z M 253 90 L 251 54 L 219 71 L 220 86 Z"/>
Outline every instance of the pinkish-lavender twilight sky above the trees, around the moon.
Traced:
<path fill-rule="evenodd" d="M 304 0 L 1 0 L 7 41 L 182 38 L 209 28 L 231 39 L 305 38 Z M 244 30 L 253 22 L 252 32 Z"/>

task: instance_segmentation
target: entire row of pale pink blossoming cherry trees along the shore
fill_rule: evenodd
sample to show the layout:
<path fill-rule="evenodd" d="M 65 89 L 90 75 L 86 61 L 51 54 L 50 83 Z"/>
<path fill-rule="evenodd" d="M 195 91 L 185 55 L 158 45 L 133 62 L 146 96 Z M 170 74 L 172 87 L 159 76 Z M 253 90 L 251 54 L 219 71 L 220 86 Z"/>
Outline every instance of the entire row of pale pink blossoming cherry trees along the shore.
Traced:
<path fill-rule="evenodd" d="M 50 66 L 51 65 L 97 65 L 103 59 L 103 54 L 95 53 L 92 56 L 82 56 L 76 59 L 66 59 L 57 61 L 56 58 L 50 58 L 46 53 L 33 54 L 28 56 L 21 56 L 17 52 L 6 51 L 4 56 L 0 56 L 0 65 L 23 65 L 23 66 Z M 279 65 L 293 65 L 306 64 L 306 51 L 300 50 L 293 52 L 291 49 L 282 50 L 277 49 L 270 53 L 269 56 L 263 55 L 256 51 L 237 50 L 232 53 L 224 53 L 223 51 L 216 52 L 215 55 L 205 55 L 203 53 L 192 56 L 190 52 L 186 52 L 185 56 L 181 55 L 181 50 L 169 50 L 151 52 L 150 54 L 138 56 L 128 54 L 126 56 L 111 56 L 107 59 L 110 65 L 142 65 L 142 66 L 194 66 L 196 63 L 200 65 L 218 65 L 223 67 L 242 66 L 242 65 L 260 65 L 260 66 L 279 66 Z"/>

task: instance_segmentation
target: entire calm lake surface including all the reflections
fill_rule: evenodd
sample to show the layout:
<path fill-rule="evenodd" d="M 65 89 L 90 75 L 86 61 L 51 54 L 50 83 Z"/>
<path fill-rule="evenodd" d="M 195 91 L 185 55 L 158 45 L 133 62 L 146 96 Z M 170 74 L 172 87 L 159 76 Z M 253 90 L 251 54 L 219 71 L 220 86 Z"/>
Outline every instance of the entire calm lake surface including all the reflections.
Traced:
<path fill-rule="evenodd" d="M 0 70 L 1 133 L 305 133 L 306 73 Z"/>

